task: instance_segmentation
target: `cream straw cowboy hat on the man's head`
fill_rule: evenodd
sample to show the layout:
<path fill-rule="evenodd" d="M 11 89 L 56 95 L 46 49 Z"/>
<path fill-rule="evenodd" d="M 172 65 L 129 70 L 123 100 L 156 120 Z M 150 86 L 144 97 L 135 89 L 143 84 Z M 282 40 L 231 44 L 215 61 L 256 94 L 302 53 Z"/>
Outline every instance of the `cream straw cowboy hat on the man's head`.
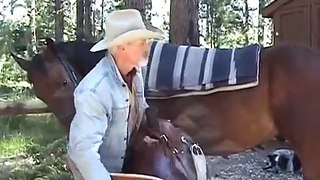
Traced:
<path fill-rule="evenodd" d="M 161 33 L 148 30 L 136 9 L 111 12 L 106 19 L 106 36 L 95 44 L 90 51 L 96 52 L 137 39 L 157 39 Z"/>

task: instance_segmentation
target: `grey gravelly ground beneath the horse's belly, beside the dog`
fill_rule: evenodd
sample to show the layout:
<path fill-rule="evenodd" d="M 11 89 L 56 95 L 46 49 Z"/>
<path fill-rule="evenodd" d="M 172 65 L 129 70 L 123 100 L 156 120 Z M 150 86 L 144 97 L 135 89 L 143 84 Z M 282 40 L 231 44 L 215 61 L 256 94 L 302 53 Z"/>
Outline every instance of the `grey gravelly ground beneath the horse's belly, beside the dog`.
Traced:
<path fill-rule="evenodd" d="M 270 150 L 234 154 L 225 159 L 208 156 L 211 180 L 302 180 L 301 174 L 279 173 L 263 170 Z"/>

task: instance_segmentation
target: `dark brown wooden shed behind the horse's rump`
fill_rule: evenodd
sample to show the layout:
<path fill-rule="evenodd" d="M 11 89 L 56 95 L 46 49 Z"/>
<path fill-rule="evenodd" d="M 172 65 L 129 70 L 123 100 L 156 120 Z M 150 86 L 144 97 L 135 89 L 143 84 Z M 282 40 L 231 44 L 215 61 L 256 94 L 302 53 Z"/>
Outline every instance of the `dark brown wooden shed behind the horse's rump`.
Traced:
<path fill-rule="evenodd" d="M 275 0 L 262 11 L 272 18 L 274 44 L 303 44 L 320 49 L 320 0 Z"/>

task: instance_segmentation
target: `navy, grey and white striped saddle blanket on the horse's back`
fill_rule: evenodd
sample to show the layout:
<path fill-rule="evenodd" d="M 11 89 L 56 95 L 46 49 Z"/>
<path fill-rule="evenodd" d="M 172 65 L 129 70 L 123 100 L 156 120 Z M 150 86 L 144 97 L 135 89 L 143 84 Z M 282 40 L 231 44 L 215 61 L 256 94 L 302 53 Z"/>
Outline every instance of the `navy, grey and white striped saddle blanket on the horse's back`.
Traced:
<path fill-rule="evenodd" d="M 153 42 L 146 91 L 223 91 L 258 84 L 260 46 L 207 49 Z"/>

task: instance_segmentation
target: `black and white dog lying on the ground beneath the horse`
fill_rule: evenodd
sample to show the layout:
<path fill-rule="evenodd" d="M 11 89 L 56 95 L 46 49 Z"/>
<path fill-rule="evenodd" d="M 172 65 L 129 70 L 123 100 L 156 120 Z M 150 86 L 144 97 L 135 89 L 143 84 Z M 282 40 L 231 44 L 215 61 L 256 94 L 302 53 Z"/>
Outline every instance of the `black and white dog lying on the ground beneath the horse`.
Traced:
<path fill-rule="evenodd" d="M 291 172 L 297 173 L 302 171 L 301 162 L 297 154 L 290 149 L 277 149 L 267 155 L 268 165 L 264 170 L 272 169 L 275 173 Z"/>

